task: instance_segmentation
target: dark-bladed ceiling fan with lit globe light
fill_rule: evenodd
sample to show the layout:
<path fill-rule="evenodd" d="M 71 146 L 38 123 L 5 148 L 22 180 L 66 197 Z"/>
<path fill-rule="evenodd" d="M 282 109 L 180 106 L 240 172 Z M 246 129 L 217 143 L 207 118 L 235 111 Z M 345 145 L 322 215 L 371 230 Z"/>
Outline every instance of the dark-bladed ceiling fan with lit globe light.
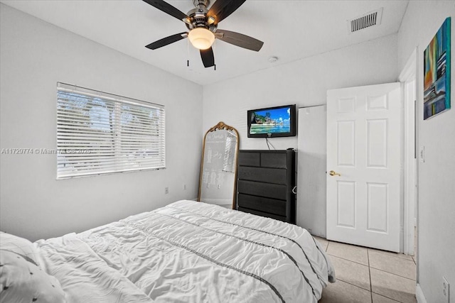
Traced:
<path fill-rule="evenodd" d="M 193 0 L 196 8 L 191 9 L 188 13 L 179 11 L 163 0 L 143 1 L 183 21 L 189 30 L 188 32 L 176 33 L 146 45 L 146 48 L 151 50 L 188 38 L 191 44 L 200 50 L 200 57 L 204 67 L 211 67 L 215 65 L 215 57 L 212 50 L 215 38 L 240 46 L 240 48 L 255 50 L 256 52 L 264 44 L 262 41 L 241 33 L 218 29 L 218 23 L 238 9 L 246 0 L 217 0 L 210 6 L 210 9 L 208 9 L 210 0 Z"/>

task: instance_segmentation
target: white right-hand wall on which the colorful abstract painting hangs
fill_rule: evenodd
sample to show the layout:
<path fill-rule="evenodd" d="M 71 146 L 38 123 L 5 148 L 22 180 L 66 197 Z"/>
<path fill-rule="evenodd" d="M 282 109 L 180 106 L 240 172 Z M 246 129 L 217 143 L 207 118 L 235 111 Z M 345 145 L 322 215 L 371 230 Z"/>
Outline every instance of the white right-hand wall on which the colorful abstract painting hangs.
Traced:
<path fill-rule="evenodd" d="M 423 121 L 423 53 L 446 17 L 451 16 L 451 109 Z M 398 64 L 405 66 L 417 47 L 418 146 L 418 283 L 430 302 L 446 302 L 442 277 L 451 283 L 455 302 L 455 2 L 410 1 L 398 33 Z"/>

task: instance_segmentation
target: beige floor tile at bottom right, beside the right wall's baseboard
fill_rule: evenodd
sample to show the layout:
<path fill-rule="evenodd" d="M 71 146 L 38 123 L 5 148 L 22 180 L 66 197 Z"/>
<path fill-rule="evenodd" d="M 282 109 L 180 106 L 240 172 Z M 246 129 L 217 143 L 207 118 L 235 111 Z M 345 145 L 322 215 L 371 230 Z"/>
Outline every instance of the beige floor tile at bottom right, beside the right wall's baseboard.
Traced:
<path fill-rule="evenodd" d="M 395 299 L 403 303 L 417 302 L 415 298 L 415 281 L 393 275 L 389 272 L 370 268 L 371 289 L 376 294 Z"/>

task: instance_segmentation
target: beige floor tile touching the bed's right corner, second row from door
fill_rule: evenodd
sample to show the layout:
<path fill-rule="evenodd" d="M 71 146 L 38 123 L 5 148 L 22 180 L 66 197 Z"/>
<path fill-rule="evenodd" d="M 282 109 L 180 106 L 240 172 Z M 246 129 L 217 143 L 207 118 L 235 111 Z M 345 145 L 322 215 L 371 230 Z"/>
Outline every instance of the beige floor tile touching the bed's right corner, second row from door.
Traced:
<path fill-rule="evenodd" d="M 331 255 L 330 260 L 335 268 L 337 280 L 348 282 L 368 291 L 371 290 L 368 266 L 338 258 L 334 255 Z"/>

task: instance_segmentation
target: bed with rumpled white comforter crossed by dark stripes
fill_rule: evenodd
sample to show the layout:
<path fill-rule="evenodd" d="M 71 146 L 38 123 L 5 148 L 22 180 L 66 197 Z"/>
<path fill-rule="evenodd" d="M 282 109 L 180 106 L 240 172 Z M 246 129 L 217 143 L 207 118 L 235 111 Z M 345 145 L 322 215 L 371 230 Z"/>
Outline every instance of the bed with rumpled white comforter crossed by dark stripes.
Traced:
<path fill-rule="evenodd" d="M 0 238 L 2 303 L 308 303 L 335 281 L 304 228 L 188 200 L 35 243 Z"/>

